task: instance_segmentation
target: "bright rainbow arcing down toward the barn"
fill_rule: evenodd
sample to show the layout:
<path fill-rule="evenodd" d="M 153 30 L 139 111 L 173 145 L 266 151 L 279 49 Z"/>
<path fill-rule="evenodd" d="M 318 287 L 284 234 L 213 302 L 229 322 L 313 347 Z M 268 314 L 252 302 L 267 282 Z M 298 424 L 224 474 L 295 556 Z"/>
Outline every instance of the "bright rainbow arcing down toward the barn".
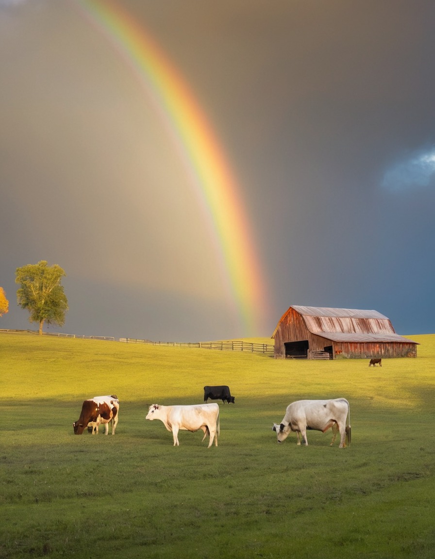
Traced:
<path fill-rule="evenodd" d="M 79 0 L 92 22 L 145 82 L 195 179 L 196 193 L 226 278 L 240 335 L 261 335 L 266 292 L 253 235 L 239 197 L 239 187 L 209 122 L 185 80 L 148 32 L 119 3 Z"/>

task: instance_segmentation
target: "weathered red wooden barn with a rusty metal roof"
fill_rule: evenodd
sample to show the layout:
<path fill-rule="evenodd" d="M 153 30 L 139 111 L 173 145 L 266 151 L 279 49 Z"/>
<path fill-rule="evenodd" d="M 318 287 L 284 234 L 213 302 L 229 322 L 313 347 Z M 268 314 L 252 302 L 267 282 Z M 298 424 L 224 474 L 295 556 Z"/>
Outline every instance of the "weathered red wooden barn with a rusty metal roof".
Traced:
<path fill-rule="evenodd" d="M 292 305 L 273 332 L 275 358 L 416 357 L 417 342 L 396 334 L 377 311 Z"/>

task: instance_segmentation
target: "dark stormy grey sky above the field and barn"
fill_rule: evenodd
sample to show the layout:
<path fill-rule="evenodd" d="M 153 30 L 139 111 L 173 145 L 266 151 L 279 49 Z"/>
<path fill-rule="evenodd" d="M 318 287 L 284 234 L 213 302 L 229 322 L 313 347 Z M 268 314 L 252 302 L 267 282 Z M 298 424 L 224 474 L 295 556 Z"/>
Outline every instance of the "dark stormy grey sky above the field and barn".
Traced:
<path fill-rule="evenodd" d="M 305 305 L 435 333 L 435 2 L 99 4 L 187 88 L 233 202 L 92 1 L 0 0 L 0 328 L 37 329 L 15 271 L 46 260 L 69 311 L 45 331 L 270 337 Z"/>

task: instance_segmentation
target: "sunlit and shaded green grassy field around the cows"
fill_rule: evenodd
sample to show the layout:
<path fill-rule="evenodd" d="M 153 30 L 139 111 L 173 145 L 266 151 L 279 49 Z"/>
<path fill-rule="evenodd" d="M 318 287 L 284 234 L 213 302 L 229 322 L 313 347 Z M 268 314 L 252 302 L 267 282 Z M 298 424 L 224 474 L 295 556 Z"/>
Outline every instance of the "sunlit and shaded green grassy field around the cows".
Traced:
<path fill-rule="evenodd" d="M 0 334 L 0 558 L 435 556 L 435 335 L 417 359 L 261 354 Z M 270 340 L 264 340 L 267 343 Z M 228 384 L 219 446 L 145 421 Z M 82 401 L 116 394 L 116 435 L 73 434 Z M 346 397 L 332 432 L 277 444 L 294 400 Z"/>

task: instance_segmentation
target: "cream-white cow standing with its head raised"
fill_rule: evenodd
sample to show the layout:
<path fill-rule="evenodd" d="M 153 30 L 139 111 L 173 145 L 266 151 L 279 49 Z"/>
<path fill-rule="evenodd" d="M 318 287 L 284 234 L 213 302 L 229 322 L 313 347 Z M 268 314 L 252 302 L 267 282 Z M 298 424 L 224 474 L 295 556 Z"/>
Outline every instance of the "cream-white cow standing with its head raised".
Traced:
<path fill-rule="evenodd" d="M 160 419 L 168 431 L 172 431 L 174 447 L 179 446 L 178 431 L 197 431 L 201 429 L 204 437 L 210 436 L 209 447 L 213 440 L 217 447 L 217 435 L 219 435 L 219 405 L 196 404 L 190 406 L 162 406 L 152 404 L 149 406 L 145 419 Z M 201 441 L 201 442 L 202 442 Z"/>

